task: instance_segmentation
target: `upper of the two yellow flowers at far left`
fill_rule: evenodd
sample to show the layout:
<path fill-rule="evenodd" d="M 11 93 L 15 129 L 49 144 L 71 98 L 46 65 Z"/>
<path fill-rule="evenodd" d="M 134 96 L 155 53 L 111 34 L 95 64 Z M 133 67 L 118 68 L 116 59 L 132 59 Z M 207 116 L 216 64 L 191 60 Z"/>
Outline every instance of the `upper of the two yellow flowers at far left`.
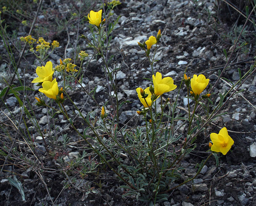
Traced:
<path fill-rule="evenodd" d="M 44 81 L 52 81 L 52 75 L 53 75 L 54 69 L 52 69 L 52 62 L 47 62 L 45 66 L 37 67 L 36 68 L 36 74 L 38 77 L 36 77 L 32 83 L 38 83 L 38 82 L 44 82 Z"/>

